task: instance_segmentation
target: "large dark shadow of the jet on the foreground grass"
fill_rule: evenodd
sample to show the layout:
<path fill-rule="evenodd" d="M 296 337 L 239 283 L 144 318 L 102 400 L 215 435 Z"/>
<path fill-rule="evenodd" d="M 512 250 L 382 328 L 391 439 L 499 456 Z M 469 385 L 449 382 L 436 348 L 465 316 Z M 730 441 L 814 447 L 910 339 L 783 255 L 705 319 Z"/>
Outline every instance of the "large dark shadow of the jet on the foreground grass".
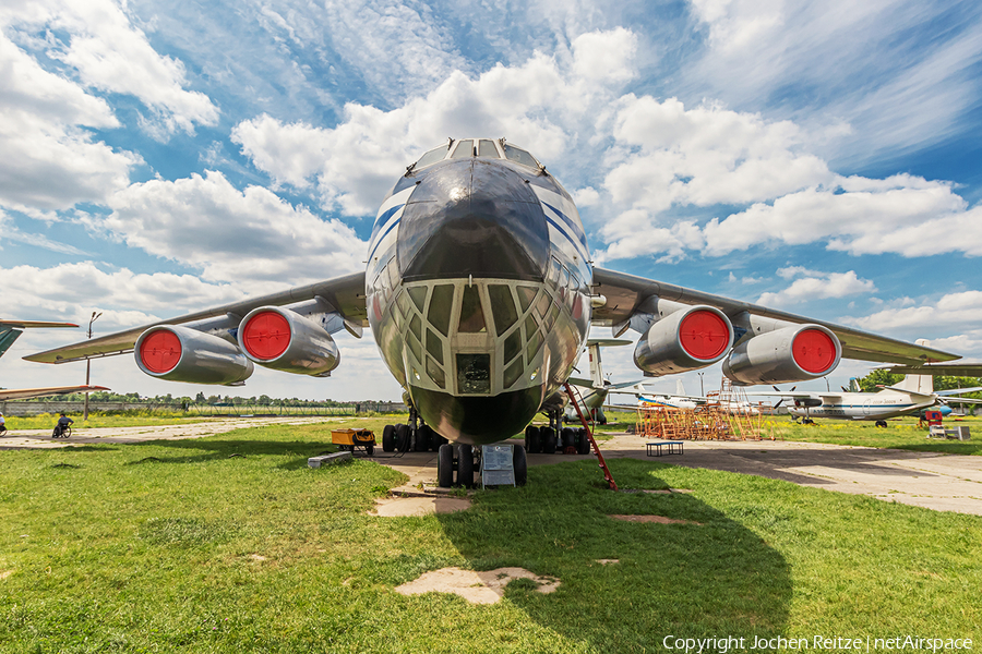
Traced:
<path fill-rule="evenodd" d="M 657 476 L 663 464 L 622 460 L 612 469 L 622 487 L 667 487 Z M 519 566 L 559 578 L 554 594 L 510 585 L 505 597 L 597 651 L 660 651 L 667 635 L 782 633 L 791 579 L 778 552 L 692 495 L 613 493 L 594 485 L 597 474 L 583 462 L 535 468 L 524 488 L 482 494 L 469 511 L 439 520 L 477 570 Z"/>

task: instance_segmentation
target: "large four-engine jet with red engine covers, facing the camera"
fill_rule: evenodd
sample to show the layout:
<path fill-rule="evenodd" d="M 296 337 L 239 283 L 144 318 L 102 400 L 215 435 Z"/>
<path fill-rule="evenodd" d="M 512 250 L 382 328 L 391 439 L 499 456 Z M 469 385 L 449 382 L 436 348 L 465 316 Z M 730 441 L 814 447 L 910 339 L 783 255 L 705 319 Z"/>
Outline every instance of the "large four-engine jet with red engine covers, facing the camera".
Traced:
<path fill-rule="evenodd" d="M 595 267 L 573 198 L 503 138 L 451 138 L 409 166 L 382 202 L 363 272 L 26 359 L 133 351 L 151 376 L 235 385 L 253 365 L 326 376 L 340 362 L 331 335 L 371 327 L 411 415 L 457 444 L 440 448 L 441 483 L 453 467 L 457 483 L 469 484 L 472 446 L 522 432 L 570 377 L 591 325 L 611 327 L 614 338 L 637 331 L 634 362 L 646 375 L 726 359 L 724 374 L 741 385 L 822 377 L 842 358 L 958 359 Z M 524 470 L 522 447 L 515 457 Z"/>

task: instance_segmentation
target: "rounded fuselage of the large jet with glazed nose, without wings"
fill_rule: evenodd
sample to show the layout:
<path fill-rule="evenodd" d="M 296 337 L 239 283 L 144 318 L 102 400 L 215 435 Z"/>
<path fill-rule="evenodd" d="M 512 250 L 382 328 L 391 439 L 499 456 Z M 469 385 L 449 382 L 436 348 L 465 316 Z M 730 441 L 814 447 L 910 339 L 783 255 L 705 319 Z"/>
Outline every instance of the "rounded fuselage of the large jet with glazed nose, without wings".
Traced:
<path fill-rule="evenodd" d="M 590 324 L 576 206 L 530 156 L 511 160 L 505 148 L 516 149 L 455 141 L 445 158 L 410 168 L 379 209 L 366 270 L 386 366 L 430 426 L 472 445 L 528 424 L 568 377 Z"/>

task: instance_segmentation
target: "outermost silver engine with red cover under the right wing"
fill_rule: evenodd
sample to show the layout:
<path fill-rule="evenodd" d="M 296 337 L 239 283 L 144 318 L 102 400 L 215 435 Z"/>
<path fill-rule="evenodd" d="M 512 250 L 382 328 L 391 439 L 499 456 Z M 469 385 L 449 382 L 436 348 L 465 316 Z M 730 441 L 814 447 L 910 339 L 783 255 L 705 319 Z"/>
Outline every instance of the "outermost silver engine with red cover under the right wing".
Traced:
<path fill-rule="evenodd" d="M 786 384 L 824 377 L 839 365 L 842 344 L 821 325 L 794 325 L 755 336 L 733 348 L 722 373 L 738 386 Z"/>

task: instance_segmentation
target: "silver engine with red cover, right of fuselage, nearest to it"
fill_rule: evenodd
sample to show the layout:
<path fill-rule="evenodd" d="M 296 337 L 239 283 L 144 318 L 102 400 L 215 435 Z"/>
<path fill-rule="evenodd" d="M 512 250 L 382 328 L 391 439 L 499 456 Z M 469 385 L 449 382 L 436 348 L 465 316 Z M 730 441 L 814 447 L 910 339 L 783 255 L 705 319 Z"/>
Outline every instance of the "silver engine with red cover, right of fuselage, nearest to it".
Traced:
<path fill-rule="evenodd" d="M 645 331 L 634 364 L 657 377 L 711 365 L 733 346 L 733 326 L 721 311 L 697 305 L 671 313 Z"/>

